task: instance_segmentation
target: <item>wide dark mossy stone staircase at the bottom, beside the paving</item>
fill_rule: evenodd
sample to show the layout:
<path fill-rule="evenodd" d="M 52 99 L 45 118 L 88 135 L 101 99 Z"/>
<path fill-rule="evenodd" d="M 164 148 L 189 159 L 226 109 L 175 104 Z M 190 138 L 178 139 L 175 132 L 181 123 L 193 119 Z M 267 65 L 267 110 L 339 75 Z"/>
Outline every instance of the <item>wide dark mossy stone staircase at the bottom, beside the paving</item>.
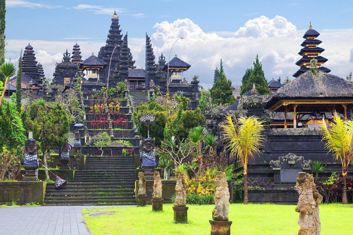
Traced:
<path fill-rule="evenodd" d="M 136 205 L 134 156 L 87 156 L 72 182 L 48 183 L 45 205 Z"/>

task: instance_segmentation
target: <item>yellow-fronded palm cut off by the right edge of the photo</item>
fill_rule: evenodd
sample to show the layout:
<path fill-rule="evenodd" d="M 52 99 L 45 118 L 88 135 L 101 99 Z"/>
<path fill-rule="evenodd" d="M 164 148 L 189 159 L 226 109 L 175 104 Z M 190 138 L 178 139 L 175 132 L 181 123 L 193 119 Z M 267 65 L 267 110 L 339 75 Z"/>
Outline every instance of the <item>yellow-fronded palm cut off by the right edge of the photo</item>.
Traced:
<path fill-rule="evenodd" d="M 326 141 L 325 147 L 332 151 L 335 160 L 340 160 L 342 164 L 343 192 L 342 204 L 348 204 L 347 200 L 347 169 L 353 156 L 353 121 L 342 120 L 337 112 L 333 115 L 332 127 L 327 128 L 322 120 L 321 131 L 322 140 Z"/>

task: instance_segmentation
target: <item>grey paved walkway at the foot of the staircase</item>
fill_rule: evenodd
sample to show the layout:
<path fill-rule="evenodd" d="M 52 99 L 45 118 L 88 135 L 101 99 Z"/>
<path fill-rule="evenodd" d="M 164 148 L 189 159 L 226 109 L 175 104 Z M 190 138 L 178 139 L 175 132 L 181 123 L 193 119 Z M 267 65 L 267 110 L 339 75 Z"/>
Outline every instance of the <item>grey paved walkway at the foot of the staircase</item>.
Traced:
<path fill-rule="evenodd" d="M 89 235 L 81 209 L 97 207 L 0 207 L 0 235 Z"/>

